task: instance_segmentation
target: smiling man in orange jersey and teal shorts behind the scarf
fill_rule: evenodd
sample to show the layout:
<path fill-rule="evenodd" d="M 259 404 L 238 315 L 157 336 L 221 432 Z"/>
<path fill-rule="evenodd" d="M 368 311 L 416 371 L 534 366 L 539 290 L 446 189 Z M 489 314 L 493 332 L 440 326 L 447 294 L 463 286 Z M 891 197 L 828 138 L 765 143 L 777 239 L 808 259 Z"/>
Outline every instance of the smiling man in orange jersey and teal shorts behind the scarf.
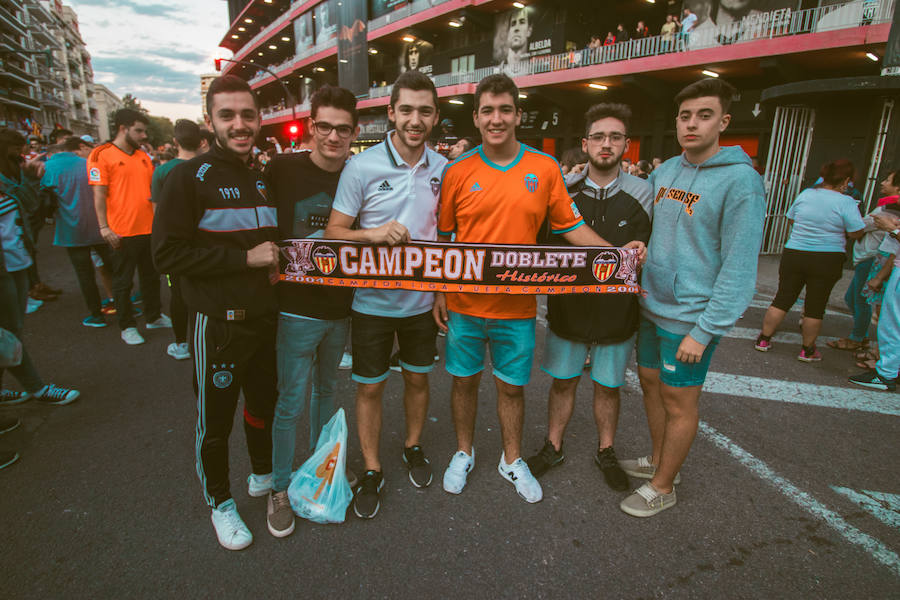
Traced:
<path fill-rule="evenodd" d="M 455 233 L 461 243 L 535 244 L 548 220 L 553 233 L 575 246 L 610 246 L 584 226 L 569 198 L 559 163 L 520 143 L 519 90 L 506 75 L 489 75 L 475 90 L 475 126 L 483 143 L 450 163 L 441 185 L 438 239 Z M 626 247 L 646 253 L 642 242 Z M 457 452 L 444 472 L 444 490 L 459 494 L 475 464 L 473 447 L 478 384 L 490 346 L 503 453 L 498 470 L 526 502 L 543 498 L 521 457 L 524 386 L 531 377 L 537 302 L 534 296 L 435 294 L 433 314 L 447 331 L 446 366 L 453 375 L 451 402 Z"/>

